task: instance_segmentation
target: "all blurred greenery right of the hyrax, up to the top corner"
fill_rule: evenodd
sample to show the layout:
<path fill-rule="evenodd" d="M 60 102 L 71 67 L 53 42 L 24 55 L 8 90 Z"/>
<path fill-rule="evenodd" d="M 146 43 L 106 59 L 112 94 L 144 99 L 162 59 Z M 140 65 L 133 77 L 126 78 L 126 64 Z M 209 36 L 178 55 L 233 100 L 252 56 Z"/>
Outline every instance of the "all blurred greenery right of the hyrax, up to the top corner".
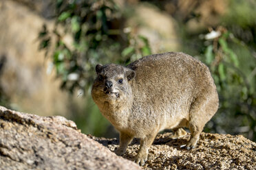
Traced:
<path fill-rule="evenodd" d="M 219 93 L 219 110 L 205 132 L 243 134 L 256 140 L 255 8 L 256 1 L 230 1 L 222 26 L 198 34 L 182 32 L 183 51 L 209 66 Z M 207 37 L 213 34 L 219 35 Z"/>

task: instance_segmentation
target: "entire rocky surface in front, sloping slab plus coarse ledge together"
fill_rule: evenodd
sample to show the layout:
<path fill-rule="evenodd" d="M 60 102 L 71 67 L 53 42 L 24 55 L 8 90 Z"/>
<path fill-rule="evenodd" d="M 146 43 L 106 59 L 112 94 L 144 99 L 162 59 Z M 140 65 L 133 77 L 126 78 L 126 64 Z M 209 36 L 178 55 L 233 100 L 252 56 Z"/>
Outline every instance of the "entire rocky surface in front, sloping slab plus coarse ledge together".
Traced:
<path fill-rule="evenodd" d="M 144 167 L 134 162 L 135 139 L 120 157 L 116 138 L 82 134 L 64 117 L 39 117 L 0 106 L 0 169 L 256 169 L 256 143 L 241 135 L 202 133 L 198 147 L 181 149 L 176 140 L 158 134 Z M 111 151 L 109 151 L 111 150 Z"/>

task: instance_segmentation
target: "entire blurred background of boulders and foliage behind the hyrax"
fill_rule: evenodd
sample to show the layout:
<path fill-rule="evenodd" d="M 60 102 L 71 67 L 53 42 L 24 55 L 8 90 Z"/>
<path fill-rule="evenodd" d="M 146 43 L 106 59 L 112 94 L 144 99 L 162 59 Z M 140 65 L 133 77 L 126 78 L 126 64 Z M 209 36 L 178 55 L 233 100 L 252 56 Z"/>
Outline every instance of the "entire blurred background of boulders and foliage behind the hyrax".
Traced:
<path fill-rule="evenodd" d="M 255 9 L 255 0 L 1 0 L 0 105 L 116 137 L 90 96 L 94 66 L 183 51 L 209 66 L 220 96 L 204 132 L 256 141 Z"/>

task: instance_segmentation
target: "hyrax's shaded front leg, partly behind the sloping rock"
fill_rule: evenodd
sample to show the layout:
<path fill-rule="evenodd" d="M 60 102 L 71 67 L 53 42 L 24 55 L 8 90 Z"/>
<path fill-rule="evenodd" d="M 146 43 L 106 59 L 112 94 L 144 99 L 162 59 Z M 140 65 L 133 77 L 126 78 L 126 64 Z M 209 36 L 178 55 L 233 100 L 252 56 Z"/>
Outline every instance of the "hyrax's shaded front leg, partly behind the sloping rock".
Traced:
<path fill-rule="evenodd" d="M 131 140 L 134 138 L 134 136 L 131 136 L 124 132 L 120 132 L 119 138 L 120 138 L 119 147 L 118 147 L 118 149 L 116 149 L 115 153 L 118 156 L 121 156 L 122 154 L 125 154 L 127 146 L 129 145 L 129 143 L 131 143 Z"/>

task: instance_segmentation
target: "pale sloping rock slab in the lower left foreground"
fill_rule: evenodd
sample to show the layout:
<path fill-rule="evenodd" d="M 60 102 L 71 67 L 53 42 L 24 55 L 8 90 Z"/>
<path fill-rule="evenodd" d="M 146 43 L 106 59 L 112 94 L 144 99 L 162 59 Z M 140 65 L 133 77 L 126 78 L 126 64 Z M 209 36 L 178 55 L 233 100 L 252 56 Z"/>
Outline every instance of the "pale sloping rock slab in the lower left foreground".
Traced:
<path fill-rule="evenodd" d="M 0 106 L 0 169 L 140 169 L 81 134 L 64 117 Z"/>

